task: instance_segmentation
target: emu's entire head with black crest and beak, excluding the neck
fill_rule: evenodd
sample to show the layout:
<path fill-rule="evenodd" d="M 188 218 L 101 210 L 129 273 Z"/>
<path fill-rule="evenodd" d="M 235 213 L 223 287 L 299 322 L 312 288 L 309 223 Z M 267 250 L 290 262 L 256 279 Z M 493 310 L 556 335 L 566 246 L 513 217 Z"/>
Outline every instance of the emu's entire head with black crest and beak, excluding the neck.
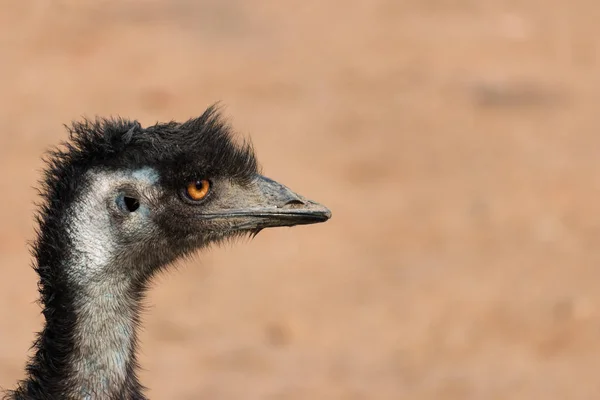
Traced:
<path fill-rule="evenodd" d="M 74 123 L 65 146 L 49 160 L 41 231 L 63 216 L 75 249 L 67 275 L 77 282 L 111 274 L 143 283 L 211 243 L 331 216 L 262 176 L 252 146 L 236 144 L 214 108 L 148 128 L 122 119 Z M 52 230 L 46 236 L 61 245 Z"/>

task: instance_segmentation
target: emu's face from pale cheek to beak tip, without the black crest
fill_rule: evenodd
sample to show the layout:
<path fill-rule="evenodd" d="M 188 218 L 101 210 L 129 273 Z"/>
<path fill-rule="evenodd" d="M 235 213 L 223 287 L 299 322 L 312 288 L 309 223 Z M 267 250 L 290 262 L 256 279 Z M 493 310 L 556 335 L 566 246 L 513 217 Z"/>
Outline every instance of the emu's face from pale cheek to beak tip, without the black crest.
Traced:
<path fill-rule="evenodd" d="M 81 191 L 83 201 L 76 202 L 71 214 L 76 228 L 72 239 L 80 242 L 75 248 L 92 243 L 88 256 L 111 259 L 99 265 L 129 265 L 148 275 L 214 242 L 256 235 L 264 228 L 323 222 L 331 215 L 260 174 L 238 181 L 199 169 L 195 178 L 168 179 L 149 166 L 91 171 Z M 88 268 L 93 264 L 86 263 Z"/>

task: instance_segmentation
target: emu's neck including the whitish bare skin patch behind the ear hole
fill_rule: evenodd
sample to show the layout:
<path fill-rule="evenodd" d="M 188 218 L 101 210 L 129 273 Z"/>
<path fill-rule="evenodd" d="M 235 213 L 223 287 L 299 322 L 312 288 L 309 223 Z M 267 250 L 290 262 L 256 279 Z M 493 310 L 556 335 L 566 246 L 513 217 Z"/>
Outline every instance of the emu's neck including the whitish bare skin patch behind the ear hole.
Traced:
<path fill-rule="evenodd" d="M 46 323 L 16 398 L 144 399 L 135 374 L 141 266 L 114 235 L 106 181 L 42 220 L 35 255 Z"/>

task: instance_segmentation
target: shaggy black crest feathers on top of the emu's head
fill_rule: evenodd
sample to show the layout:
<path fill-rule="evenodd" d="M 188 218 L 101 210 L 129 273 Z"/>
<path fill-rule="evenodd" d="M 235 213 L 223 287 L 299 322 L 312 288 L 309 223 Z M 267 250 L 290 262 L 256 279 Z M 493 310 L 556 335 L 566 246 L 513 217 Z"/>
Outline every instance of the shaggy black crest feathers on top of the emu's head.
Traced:
<path fill-rule="evenodd" d="M 216 107 L 183 123 L 157 123 L 142 128 L 123 118 L 74 122 L 66 150 L 52 153 L 50 163 L 62 169 L 87 171 L 151 166 L 197 176 L 227 177 L 240 182 L 258 172 L 250 142 L 235 143 L 229 125 Z M 54 171 L 58 172 L 58 171 Z"/>

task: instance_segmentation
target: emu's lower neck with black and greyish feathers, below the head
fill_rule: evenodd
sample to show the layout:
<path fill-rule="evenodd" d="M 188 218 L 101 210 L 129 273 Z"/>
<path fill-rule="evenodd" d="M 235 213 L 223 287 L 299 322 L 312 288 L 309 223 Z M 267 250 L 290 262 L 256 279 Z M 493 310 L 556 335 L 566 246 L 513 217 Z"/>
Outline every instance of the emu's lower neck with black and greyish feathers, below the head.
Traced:
<path fill-rule="evenodd" d="M 95 263 L 85 248 L 69 253 L 59 265 L 38 261 L 46 323 L 15 398 L 144 399 L 135 373 L 142 288 L 105 274 L 117 266 Z"/>

